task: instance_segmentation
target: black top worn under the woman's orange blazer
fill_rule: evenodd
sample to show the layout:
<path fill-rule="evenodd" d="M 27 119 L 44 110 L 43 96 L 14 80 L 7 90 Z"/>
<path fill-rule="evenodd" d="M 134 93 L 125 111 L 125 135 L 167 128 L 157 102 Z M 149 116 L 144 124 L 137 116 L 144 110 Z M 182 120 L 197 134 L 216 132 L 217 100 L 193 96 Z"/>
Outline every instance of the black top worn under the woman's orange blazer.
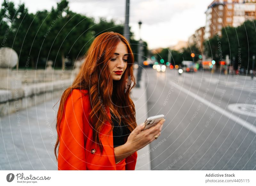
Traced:
<path fill-rule="evenodd" d="M 121 120 L 121 126 L 118 124 L 118 118 L 110 111 L 111 120 L 114 124 L 113 128 L 113 145 L 118 147 L 125 143 L 125 138 L 128 137 L 128 130 Z"/>

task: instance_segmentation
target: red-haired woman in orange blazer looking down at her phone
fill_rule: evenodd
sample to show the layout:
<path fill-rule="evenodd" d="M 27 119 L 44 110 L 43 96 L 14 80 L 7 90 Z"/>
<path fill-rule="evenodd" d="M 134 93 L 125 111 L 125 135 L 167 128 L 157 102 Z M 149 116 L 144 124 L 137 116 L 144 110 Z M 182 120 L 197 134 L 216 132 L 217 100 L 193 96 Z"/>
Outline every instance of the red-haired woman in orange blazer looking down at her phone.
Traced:
<path fill-rule="evenodd" d="M 58 170 L 134 170 L 137 151 L 160 135 L 164 121 L 146 130 L 144 123 L 137 126 L 129 96 L 136 85 L 133 63 L 124 36 L 106 32 L 94 39 L 60 99 Z"/>

